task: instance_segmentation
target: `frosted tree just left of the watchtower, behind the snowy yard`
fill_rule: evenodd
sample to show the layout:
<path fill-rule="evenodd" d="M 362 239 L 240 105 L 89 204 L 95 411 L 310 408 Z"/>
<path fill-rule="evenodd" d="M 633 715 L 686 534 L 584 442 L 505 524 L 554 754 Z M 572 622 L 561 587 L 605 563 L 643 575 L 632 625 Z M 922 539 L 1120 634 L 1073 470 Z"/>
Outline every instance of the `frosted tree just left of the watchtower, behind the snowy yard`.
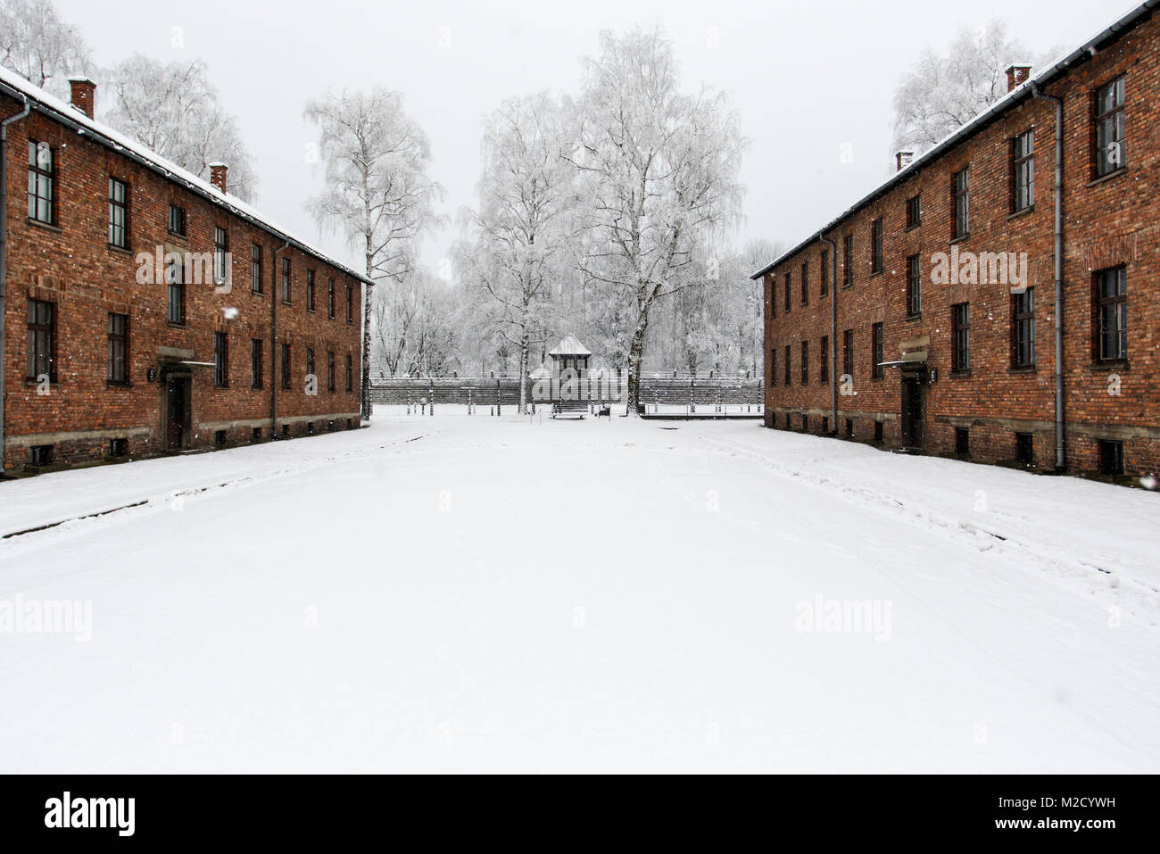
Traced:
<path fill-rule="evenodd" d="M 572 238 L 574 171 L 568 104 L 548 93 L 509 99 L 487 117 L 479 208 L 463 211 L 456 248 L 461 280 L 484 292 L 480 307 L 494 334 L 517 354 L 525 377 L 531 349 L 544 343 Z M 520 384 L 520 412 L 528 407 Z"/>

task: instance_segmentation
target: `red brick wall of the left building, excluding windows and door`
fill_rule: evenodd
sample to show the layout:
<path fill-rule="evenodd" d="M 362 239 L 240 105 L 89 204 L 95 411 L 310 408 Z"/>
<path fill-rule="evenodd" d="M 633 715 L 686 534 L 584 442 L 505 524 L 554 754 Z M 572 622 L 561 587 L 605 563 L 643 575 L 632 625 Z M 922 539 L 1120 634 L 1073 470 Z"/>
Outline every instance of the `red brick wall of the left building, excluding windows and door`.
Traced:
<path fill-rule="evenodd" d="M 14 102 L 0 99 L 10 115 Z M 52 120 L 32 113 L 8 129 L 8 301 L 5 323 L 6 454 L 9 472 L 20 471 L 32 444 L 52 444 L 53 462 L 97 459 L 109 440 L 128 439 L 132 456 L 159 454 L 165 436 L 165 383 L 160 369 L 175 361 L 212 362 L 213 333 L 229 340 L 229 388 L 217 388 L 212 367 L 184 367 L 191 383 L 189 448 L 210 448 L 219 430 L 229 443 L 251 441 L 253 429 L 270 434 L 270 396 L 277 348 L 270 340 L 271 299 L 278 292 L 274 253 L 282 241 L 190 191 L 183 184 L 137 165 Z M 52 226 L 27 218 L 29 138 L 49 143 L 56 157 L 57 217 Z M 129 186 L 129 248 L 109 245 L 109 179 Z M 169 204 L 186 209 L 186 237 L 168 233 Z M 167 321 L 164 272 L 140 283 L 139 253 L 213 251 L 215 229 L 229 234 L 232 285 L 216 292 L 212 281 L 189 281 L 186 323 Z M 251 290 L 251 246 L 262 251 L 262 292 Z M 291 388 L 278 390 L 278 432 L 307 432 L 347 418 L 357 422 L 361 341 L 361 284 L 339 268 L 293 247 L 278 255 L 291 261 L 291 303 L 278 307 L 278 343 L 291 345 Z M 316 311 L 306 310 L 306 275 L 314 270 Z M 327 317 L 327 283 L 336 290 L 335 318 Z M 346 289 L 353 289 L 354 318 L 346 320 Z M 29 299 L 56 304 L 57 377 L 48 395 L 26 379 Z M 235 310 L 229 312 L 225 310 Z M 108 313 L 129 316 L 129 383 L 108 378 Z M 263 342 L 262 389 L 251 385 L 251 339 Z M 305 393 L 305 348 L 316 350 L 318 395 Z M 335 390 L 328 391 L 326 354 L 335 354 Z M 179 355 L 174 355 L 179 354 Z M 346 391 L 346 356 L 351 356 L 351 391 Z M 158 370 L 150 382 L 148 371 Z"/>

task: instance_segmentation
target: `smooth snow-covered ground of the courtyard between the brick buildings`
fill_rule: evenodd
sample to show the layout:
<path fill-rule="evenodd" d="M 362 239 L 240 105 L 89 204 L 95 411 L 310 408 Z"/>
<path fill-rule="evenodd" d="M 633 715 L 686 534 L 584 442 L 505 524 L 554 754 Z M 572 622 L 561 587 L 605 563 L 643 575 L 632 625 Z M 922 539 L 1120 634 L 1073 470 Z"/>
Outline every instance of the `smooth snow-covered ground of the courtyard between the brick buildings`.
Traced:
<path fill-rule="evenodd" d="M 81 603 L 0 621 L 0 772 L 1160 772 L 1158 493 L 389 415 L 0 484 L 0 534 L 140 501 L 0 541 L 0 617 Z"/>

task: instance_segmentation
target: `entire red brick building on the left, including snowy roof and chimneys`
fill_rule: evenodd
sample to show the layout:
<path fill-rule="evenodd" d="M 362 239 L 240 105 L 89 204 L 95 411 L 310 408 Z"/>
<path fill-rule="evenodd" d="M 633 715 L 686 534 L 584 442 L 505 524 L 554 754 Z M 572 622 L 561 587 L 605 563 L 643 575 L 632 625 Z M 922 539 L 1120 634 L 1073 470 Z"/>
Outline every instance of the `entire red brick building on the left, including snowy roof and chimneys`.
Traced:
<path fill-rule="evenodd" d="M 368 280 L 0 70 L 8 475 L 358 424 Z"/>

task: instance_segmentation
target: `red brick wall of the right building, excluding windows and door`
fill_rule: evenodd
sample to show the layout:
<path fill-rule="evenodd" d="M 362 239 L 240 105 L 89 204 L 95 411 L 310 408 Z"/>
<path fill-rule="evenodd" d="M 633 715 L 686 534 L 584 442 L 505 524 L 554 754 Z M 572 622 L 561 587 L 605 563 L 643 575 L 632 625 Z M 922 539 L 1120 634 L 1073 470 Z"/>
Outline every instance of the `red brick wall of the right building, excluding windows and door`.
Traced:
<path fill-rule="evenodd" d="M 1160 207 L 1154 188 L 1160 158 L 1157 100 L 1160 95 L 1160 24 L 1150 17 L 1090 61 L 1049 85 L 1065 99 L 1065 323 L 1064 368 L 1067 466 L 1099 466 L 1099 440 L 1122 441 L 1129 473 L 1160 469 Z M 1094 91 L 1117 75 L 1125 79 L 1126 168 L 1093 181 Z M 1035 131 L 1035 207 L 1012 212 L 1012 139 Z M 970 236 L 952 241 L 952 176 L 969 166 Z M 871 328 L 883 324 L 884 360 L 926 352 L 935 381 L 925 383 L 923 450 L 952 454 L 956 428 L 970 430 L 970 455 L 980 461 L 1013 461 L 1016 433 L 1034 436 L 1034 462 L 1054 465 L 1054 275 L 1053 275 L 1054 104 L 1028 100 L 921 165 L 899 184 L 855 211 L 826 237 L 838 243 L 836 294 L 820 296 L 815 241 L 783 259 L 764 277 L 767 425 L 821 432 L 831 414 L 831 386 L 819 372 L 822 335 L 831 335 L 831 299 L 838 302 L 836 367 L 842 367 L 842 336 L 854 333 L 853 383 L 839 396 L 838 430 L 853 420 L 854 436 L 871 441 L 882 422 L 886 446 L 902 440 L 902 371 L 886 368 L 872 376 Z M 906 202 L 920 195 L 922 218 L 907 227 Z M 871 272 L 871 224 L 884 220 L 884 269 Z M 853 284 L 842 287 L 843 238 L 854 238 Z M 952 245 L 954 243 L 954 245 Z M 1034 369 L 1012 367 L 1012 294 L 1008 284 L 936 284 L 935 253 L 1027 253 L 1028 284 L 1035 288 Z M 907 259 L 921 265 L 921 313 L 908 317 Z M 809 266 L 809 304 L 800 299 L 800 268 Z M 1128 276 L 1128 363 L 1096 364 L 1094 359 L 1094 273 L 1124 265 Z M 785 274 L 790 310 L 785 310 Z M 970 304 L 971 366 L 951 370 L 951 306 Z M 800 342 L 810 342 L 810 382 L 802 384 Z M 785 346 L 791 382 L 784 383 Z M 771 356 L 770 354 L 775 355 Z M 776 377 L 771 364 L 776 370 Z M 834 369 L 834 363 L 829 366 Z M 1115 375 L 1115 377 L 1112 376 Z M 1109 393 L 1118 377 L 1118 395 Z M 771 382 L 774 381 L 774 382 Z M 835 425 L 827 425 L 832 430 Z"/>

